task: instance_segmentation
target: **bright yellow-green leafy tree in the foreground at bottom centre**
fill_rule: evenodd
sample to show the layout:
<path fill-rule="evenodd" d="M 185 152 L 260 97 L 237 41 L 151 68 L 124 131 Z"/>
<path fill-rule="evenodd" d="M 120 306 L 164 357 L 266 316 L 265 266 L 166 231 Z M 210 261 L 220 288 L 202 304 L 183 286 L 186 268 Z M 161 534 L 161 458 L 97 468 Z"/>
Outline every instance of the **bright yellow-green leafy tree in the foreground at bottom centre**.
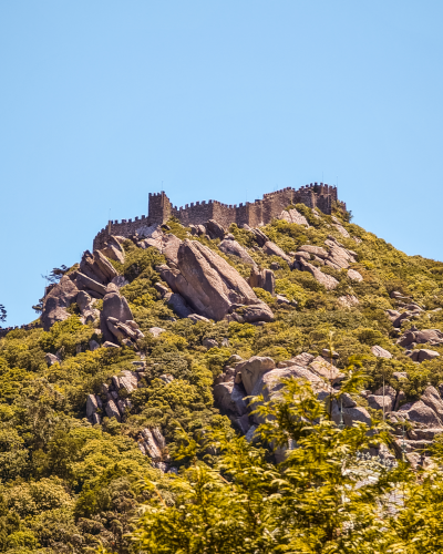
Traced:
<path fill-rule="evenodd" d="M 198 443 L 188 439 L 182 455 L 194 458 L 194 464 L 175 480 L 173 505 L 161 493 L 152 496 L 133 533 L 140 550 L 313 553 L 346 544 L 348 536 L 337 537 L 336 533 L 346 524 L 357 525 L 365 536 L 369 523 L 381 527 L 371 488 L 363 488 L 361 499 L 352 473 L 342 471 L 343 464 L 352 468 L 356 453 L 369 445 L 363 424 L 340 432 L 326 418 L 324 407 L 310 387 L 297 381 L 287 382 L 284 399 L 261 404 L 260 414 L 272 421 L 257 431 L 264 441 L 276 447 L 297 441 L 299 448 L 276 466 L 265 448 L 248 444 L 231 432 L 213 430 L 200 448 L 210 444 L 220 455 L 214 465 L 207 465 L 196 462 Z M 155 483 L 147 485 L 156 491 Z M 364 521 L 356 512 L 364 513 Z"/>

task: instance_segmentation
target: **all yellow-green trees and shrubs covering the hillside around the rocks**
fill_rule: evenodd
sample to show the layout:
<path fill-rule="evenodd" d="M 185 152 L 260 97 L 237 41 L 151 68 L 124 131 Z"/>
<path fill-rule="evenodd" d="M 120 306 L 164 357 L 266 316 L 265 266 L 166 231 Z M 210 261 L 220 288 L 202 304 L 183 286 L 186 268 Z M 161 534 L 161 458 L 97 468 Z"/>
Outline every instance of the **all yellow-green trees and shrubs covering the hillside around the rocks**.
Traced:
<path fill-rule="evenodd" d="M 309 387 L 287 383 L 287 392 L 257 403 L 255 417 L 261 427 L 251 444 L 237 437 L 214 407 L 214 379 L 234 353 L 244 359 L 270 356 L 278 362 L 301 352 L 321 355 L 331 340 L 339 355 L 337 366 L 349 376 L 341 390 L 359 404 L 367 401 L 356 396 L 357 386 L 374 391 L 384 381 L 401 388 L 409 401 L 420 398 L 429 383 L 443 383 L 439 358 L 411 362 L 396 345 L 398 334 L 387 316 L 388 309 L 402 309 L 390 298 L 399 290 L 424 308 L 403 329 L 415 325 L 443 330 L 443 310 L 439 311 L 443 264 L 396 250 L 349 223 L 350 214 L 341 205 L 333 207 L 334 215 L 361 242 L 343 237 L 330 216 L 316 217 L 303 205 L 296 208 L 310 227 L 274 220 L 261 228 L 269 239 L 290 253 L 302 245 L 324 247 L 332 235 L 356 253 L 352 268 L 363 280 L 351 281 L 346 270 L 312 261 L 339 280 L 334 290 L 326 290 L 309 273 L 291 270 L 278 256 L 267 256 L 251 232 L 233 224 L 229 232 L 260 268 L 279 264 L 276 293 L 298 302 L 288 309 L 256 289 L 275 314 L 275 321 L 264 326 L 194 325 L 177 318 L 155 289 L 161 279 L 155 267 L 165 258 L 155 248 L 143 250 L 125 240 L 124 264 L 111 263 L 130 281 L 121 293 L 145 335 L 138 348 L 146 368 L 143 388 L 131 394 L 120 391 L 121 398 L 131 397 L 132 404 L 122 422 L 100 411 L 102 424 L 92 427 L 85 419 L 86 397 L 94 392 L 104 400 L 101 384 L 134 369 L 132 361 L 140 358 L 126 347 L 92 352 L 89 341 L 102 338 L 93 326 L 81 324 L 76 305 L 71 305 L 69 319 L 48 332 L 17 329 L 0 339 L 0 552 L 415 554 L 442 550 L 440 440 L 433 447 L 434 469 L 419 481 L 400 464 L 390 472 L 378 468 L 379 481 L 358 488 L 369 469 L 357 463 L 356 453 L 384 440 L 384 434 L 381 429 L 368 434 L 361 425 L 340 432 L 329 420 L 330 397 L 321 403 Z M 167 224 L 177 237 L 190 237 L 176 219 Z M 219 252 L 219 239 L 192 239 L 220 255 L 244 277 L 249 275 L 249 266 Z M 339 301 L 343 295 L 357 297 L 359 304 L 344 308 Z M 103 301 L 94 307 L 102 309 Z M 165 331 L 154 338 L 151 327 Z M 207 350 L 205 338 L 218 346 Z M 374 345 L 393 358 L 374 357 Z M 420 347 L 443 355 L 441 346 Z M 48 367 L 47 352 L 56 352 L 61 362 Z M 406 378 L 395 379 L 393 373 L 399 371 Z M 165 375 L 174 380 L 166 383 Z M 167 442 L 162 455 L 174 456 L 179 476 L 163 475 L 141 453 L 137 440 L 146 427 L 161 429 Z M 286 448 L 288 441 L 298 448 L 276 464 L 271 451 Z M 396 516 L 383 507 L 393 490 L 403 491 L 404 499 Z M 134 531 L 142 505 L 145 512 L 132 542 L 127 534 Z"/>

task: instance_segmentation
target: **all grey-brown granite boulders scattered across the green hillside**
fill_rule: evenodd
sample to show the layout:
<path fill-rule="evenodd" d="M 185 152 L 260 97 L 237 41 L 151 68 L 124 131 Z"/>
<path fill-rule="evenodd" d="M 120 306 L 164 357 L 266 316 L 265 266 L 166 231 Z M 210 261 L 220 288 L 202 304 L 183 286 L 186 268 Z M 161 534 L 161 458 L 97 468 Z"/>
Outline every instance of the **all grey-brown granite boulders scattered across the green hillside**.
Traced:
<path fill-rule="evenodd" d="M 315 217 L 319 217 L 313 212 Z M 307 219 L 291 208 L 284 211 L 281 219 L 309 227 Z M 333 227 L 346 238 L 349 233 L 338 219 L 333 219 Z M 130 237 L 133 244 L 141 248 L 155 248 L 165 258 L 165 263 L 155 267 L 159 275 L 154 286 L 161 297 L 172 308 L 178 318 L 189 318 L 192 321 L 237 321 L 254 325 L 264 325 L 274 320 L 271 308 L 264 302 L 255 289 L 260 288 L 269 293 L 277 304 L 296 307 L 296 301 L 276 294 L 276 276 L 272 269 L 288 265 L 293 271 L 309 271 L 312 277 L 323 285 L 327 290 L 337 288 L 339 281 L 329 275 L 328 267 L 343 270 L 350 281 L 361 283 L 363 276 L 352 268 L 358 260 L 358 254 L 332 235 L 328 235 L 320 245 L 305 244 L 297 252 L 286 253 L 260 229 L 244 225 L 249 233 L 253 246 L 246 248 L 236 237 L 220 225 L 209 219 L 205 224 L 190 225 L 190 234 L 184 239 L 178 238 L 167 225 L 153 225 L 143 229 L 143 235 Z M 212 240 L 205 243 L 202 237 Z M 356 237 L 352 237 L 358 240 Z M 110 236 L 104 247 L 93 253 L 85 252 L 80 265 L 70 270 L 62 279 L 47 289 L 43 302 L 41 324 L 48 330 L 55 321 L 70 316 L 69 307 L 76 302 L 80 319 L 83 324 L 92 324 L 96 328 L 97 340 L 90 341 L 91 350 L 100 347 L 115 348 L 120 345 L 140 350 L 137 341 L 144 338 L 138 325 L 133 318 L 131 308 L 121 295 L 120 289 L 127 284 L 124 276 L 119 275 L 115 267 L 124 264 L 125 238 Z M 210 245 L 207 246 L 207 245 Z M 255 253 L 272 256 L 270 269 L 261 268 L 256 261 L 259 257 Z M 245 279 L 231 264 L 229 258 L 236 258 L 243 266 L 249 266 L 249 277 Z M 276 261 L 280 259 L 280 263 Z M 113 265 L 113 261 L 119 264 Z M 439 352 L 430 348 L 421 348 L 443 343 L 443 332 L 437 329 L 419 330 L 414 326 L 405 329 L 403 326 L 425 314 L 424 306 L 420 306 L 412 298 L 400 291 L 392 291 L 391 299 L 395 309 L 385 311 L 392 321 L 396 345 L 404 349 L 404 355 L 412 362 L 419 365 L 425 360 L 439 357 Z M 96 302 L 102 300 L 101 309 Z M 359 304 L 353 294 L 337 298 L 343 308 L 352 308 Z M 403 328 L 403 331 L 402 331 Z M 150 329 L 150 334 L 157 338 L 164 332 L 161 327 Z M 227 339 L 224 339 L 227 341 Z M 205 338 L 203 346 L 207 349 L 218 347 L 214 339 Z M 224 346 L 224 343 L 222 343 Z M 392 353 L 379 345 L 371 347 L 371 352 L 378 358 L 390 359 Z M 138 352 L 142 356 L 142 352 Z M 334 366 L 339 355 L 323 350 L 315 358 L 303 352 L 289 360 L 276 362 L 268 357 L 253 357 L 248 360 L 234 355 L 226 363 L 223 373 L 216 378 L 214 398 L 216 406 L 227 414 L 233 424 L 241 431 L 248 440 L 253 440 L 257 425 L 261 422 L 260 416 L 253 413 L 257 404 L 250 406 L 248 397 L 261 396 L 268 401 L 280 394 L 281 379 L 296 377 L 311 383 L 321 399 L 327 399 L 340 389 L 343 375 Z M 61 361 L 59 352 L 48 353 L 47 362 L 52 365 Z M 146 384 L 145 362 L 134 362 L 133 371 L 122 371 L 113 376 L 110 383 L 103 383 L 100 394 L 90 394 L 86 412 L 92 424 L 101 422 L 103 414 L 123 421 L 125 412 L 131 408 L 131 393 Z M 392 423 L 398 423 L 396 432 L 402 422 L 408 421 L 404 437 L 398 437 L 396 450 L 406 449 L 410 453 L 425 448 L 435 434 L 443 432 L 443 400 L 439 391 L 427 387 L 419 400 L 405 402 L 402 392 L 402 380 L 405 375 L 394 373 L 398 387 L 390 384 L 375 392 L 363 391 L 362 402 L 371 409 L 382 410 L 384 417 Z M 167 386 L 174 378 L 162 376 Z M 342 402 L 331 404 L 332 419 L 351 425 L 356 421 L 371 422 L 370 413 L 360 406 L 357 398 L 349 394 L 342 397 Z M 138 435 L 140 449 L 150 455 L 154 464 L 166 471 L 168 456 L 164 438 L 158 429 L 143 429 Z M 280 453 L 284 455 L 284 453 Z M 279 455 L 280 455 L 279 454 Z M 412 455 L 412 454 L 411 454 Z M 163 465 L 162 465 L 163 464 Z"/>

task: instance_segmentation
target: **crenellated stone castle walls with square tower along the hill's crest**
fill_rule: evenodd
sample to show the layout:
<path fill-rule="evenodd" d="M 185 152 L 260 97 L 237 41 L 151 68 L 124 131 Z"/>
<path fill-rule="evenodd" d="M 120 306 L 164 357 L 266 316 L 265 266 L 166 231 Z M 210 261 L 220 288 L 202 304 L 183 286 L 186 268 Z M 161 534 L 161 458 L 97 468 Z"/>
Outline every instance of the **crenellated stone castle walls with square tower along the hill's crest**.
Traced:
<path fill-rule="evenodd" d="M 310 208 L 318 208 L 324 214 L 330 214 L 332 204 L 339 202 L 337 187 L 323 183 L 311 183 L 298 191 L 288 186 L 281 191 L 265 194 L 262 199 L 246 202 L 246 204 L 222 204 L 217 201 L 203 201 L 186 204 L 184 207 L 173 206 L 169 198 L 162 191 L 150 193 L 147 217 L 142 215 L 134 219 L 110 220 L 94 238 L 94 249 L 102 248 L 109 235 L 128 237 L 154 224 L 164 224 L 169 217 L 176 217 L 182 225 L 200 225 L 208 219 L 216 219 L 224 227 L 231 223 L 238 226 L 248 224 L 250 227 L 266 225 L 281 214 L 290 204 L 305 204 Z M 340 203 L 346 207 L 344 203 Z"/>

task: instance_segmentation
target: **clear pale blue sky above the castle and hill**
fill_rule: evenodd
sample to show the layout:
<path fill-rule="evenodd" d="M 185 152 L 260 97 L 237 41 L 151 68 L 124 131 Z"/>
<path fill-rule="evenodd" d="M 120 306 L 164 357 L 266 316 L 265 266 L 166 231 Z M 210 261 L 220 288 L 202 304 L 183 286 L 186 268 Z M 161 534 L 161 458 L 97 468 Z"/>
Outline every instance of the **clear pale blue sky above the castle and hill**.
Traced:
<path fill-rule="evenodd" d="M 443 258 L 442 1 L 0 2 L 0 304 L 112 219 L 336 184 L 354 222 Z"/>

